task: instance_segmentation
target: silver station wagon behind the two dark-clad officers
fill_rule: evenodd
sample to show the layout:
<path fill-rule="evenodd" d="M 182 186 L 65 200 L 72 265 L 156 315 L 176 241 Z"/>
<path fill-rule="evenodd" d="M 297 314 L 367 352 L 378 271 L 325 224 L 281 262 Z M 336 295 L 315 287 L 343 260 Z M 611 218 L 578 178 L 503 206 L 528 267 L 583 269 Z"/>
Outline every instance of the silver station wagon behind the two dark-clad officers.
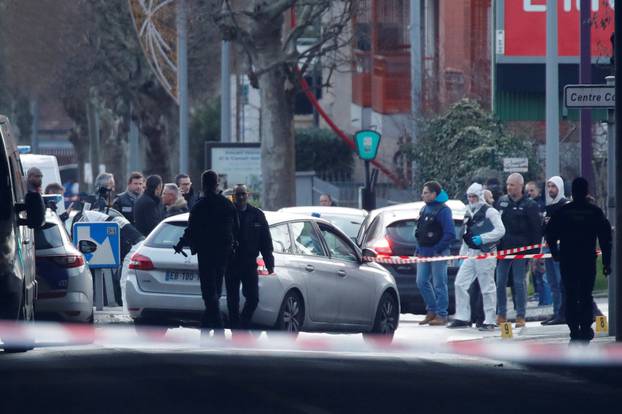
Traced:
<path fill-rule="evenodd" d="M 372 332 L 392 337 L 399 323 L 399 297 L 391 274 L 364 263 L 362 252 L 327 220 L 266 212 L 276 268 L 268 274 L 258 258 L 259 306 L 252 322 L 261 328 L 298 331 Z M 178 326 L 197 322 L 204 309 L 197 258 L 175 255 L 172 246 L 188 214 L 164 220 L 127 266 L 126 301 L 137 325 Z M 226 292 L 220 309 L 226 315 Z M 243 305 L 243 295 L 241 306 Z"/>

